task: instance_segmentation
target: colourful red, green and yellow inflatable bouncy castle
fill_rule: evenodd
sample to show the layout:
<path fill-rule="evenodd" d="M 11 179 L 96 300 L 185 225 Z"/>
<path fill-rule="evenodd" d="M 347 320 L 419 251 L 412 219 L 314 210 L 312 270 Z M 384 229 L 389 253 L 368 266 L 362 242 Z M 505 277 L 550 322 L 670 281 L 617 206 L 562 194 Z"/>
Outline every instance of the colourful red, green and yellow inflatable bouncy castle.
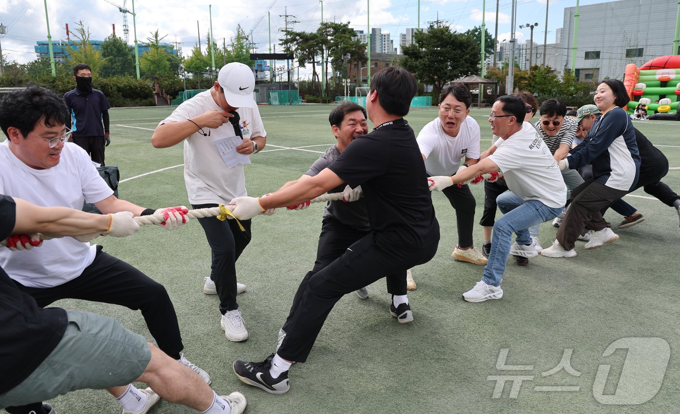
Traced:
<path fill-rule="evenodd" d="M 639 68 L 627 65 L 624 85 L 630 97 L 624 109 L 630 114 L 642 103 L 649 119 L 680 120 L 680 56 L 653 58 Z"/>

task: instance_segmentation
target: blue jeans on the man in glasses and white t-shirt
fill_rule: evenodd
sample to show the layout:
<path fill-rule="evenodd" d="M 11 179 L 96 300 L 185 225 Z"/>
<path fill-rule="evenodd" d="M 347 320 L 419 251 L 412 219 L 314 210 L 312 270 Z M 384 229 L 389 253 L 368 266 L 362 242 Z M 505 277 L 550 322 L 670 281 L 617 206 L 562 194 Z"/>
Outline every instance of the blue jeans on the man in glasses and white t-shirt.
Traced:
<path fill-rule="evenodd" d="M 493 286 L 500 286 L 500 278 L 505 272 L 505 261 L 510 254 L 512 233 L 517 235 L 517 244 L 531 241 L 530 226 L 552 220 L 564 209 L 564 206 L 553 208 L 538 200 L 524 201 L 512 192 L 504 192 L 496 199 L 498 209 L 503 212 L 494 224 L 494 235 L 491 239 L 489 261 L 484 267 L 481 279 Z"/>

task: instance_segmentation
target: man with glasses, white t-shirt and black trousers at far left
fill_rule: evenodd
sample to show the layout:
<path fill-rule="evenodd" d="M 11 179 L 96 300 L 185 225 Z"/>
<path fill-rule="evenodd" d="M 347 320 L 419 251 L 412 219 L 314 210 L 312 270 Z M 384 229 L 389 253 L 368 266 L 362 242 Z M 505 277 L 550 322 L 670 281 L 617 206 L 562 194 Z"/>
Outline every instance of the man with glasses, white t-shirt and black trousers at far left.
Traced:
<path fill-rule="evenodd" d="M 116 198 L 90 156 L 75 143 L 66 142 L 71 135 L 65 126 L 68 120 L 63 99 L 45 88 L 24 88 L 0 101 L 0 126 L 7 136 L 0 143 L 0 194 L 42 207 L 82 209 L 86 201 L 105 214 L 163 211 L 167 215 L 163 228 L 167 230 L 188 220 L 184 217 L 186 208 L 144 209 Z M 35 249 L 28 247 L 22 243 L 19 252 L 0 248 L 0 266 L 40 307 L 77 298 L 139 309 L 158 348 L 210 383 L 209 375 L 182 354 L 177 315 L 163 285 L 106 254 L 101 246 L 71 237 L 48 240 Z M 33 411 L 22 408 L 9 411 Z"/>

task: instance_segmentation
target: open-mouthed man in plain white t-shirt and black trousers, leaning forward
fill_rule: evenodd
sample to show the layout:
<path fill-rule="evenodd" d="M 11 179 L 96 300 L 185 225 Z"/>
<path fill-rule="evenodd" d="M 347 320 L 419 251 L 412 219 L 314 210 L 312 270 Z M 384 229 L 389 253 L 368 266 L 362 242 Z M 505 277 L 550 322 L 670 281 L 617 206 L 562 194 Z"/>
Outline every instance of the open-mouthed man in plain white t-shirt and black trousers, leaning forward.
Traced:
<path fill-rule="evenodd" d="M 479 160 L 479 124 L 468 116 L 472 95 L 464 84 L 447 85 L 439 94 L 439 117 L 418 134 L 418 147 L 428 175 L 454 175 Z M 465 159 L 464 164 L 460 161 Z M 475 196 L 467 184 L 443 190 L 456 210 L 458 244 L 451 256 L 462 262 L 486 264 L 473 243 Z"/>

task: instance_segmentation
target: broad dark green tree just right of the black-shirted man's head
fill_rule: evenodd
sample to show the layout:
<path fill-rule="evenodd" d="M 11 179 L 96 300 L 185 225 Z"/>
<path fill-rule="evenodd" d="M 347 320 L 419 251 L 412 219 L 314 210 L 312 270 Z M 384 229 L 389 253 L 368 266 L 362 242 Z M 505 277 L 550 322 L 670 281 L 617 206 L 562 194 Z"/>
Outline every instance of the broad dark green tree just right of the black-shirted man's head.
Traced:
<path fill-rule="evenodd" d="M 401 66 L 434 87 L 439 94 L 447 82 L 479 72 L 479 48 L 470 35 L 452 32 L 441 22 L 430 24 L 427 33 L 417 32 L 412 45 L 403 48 Z"/>

